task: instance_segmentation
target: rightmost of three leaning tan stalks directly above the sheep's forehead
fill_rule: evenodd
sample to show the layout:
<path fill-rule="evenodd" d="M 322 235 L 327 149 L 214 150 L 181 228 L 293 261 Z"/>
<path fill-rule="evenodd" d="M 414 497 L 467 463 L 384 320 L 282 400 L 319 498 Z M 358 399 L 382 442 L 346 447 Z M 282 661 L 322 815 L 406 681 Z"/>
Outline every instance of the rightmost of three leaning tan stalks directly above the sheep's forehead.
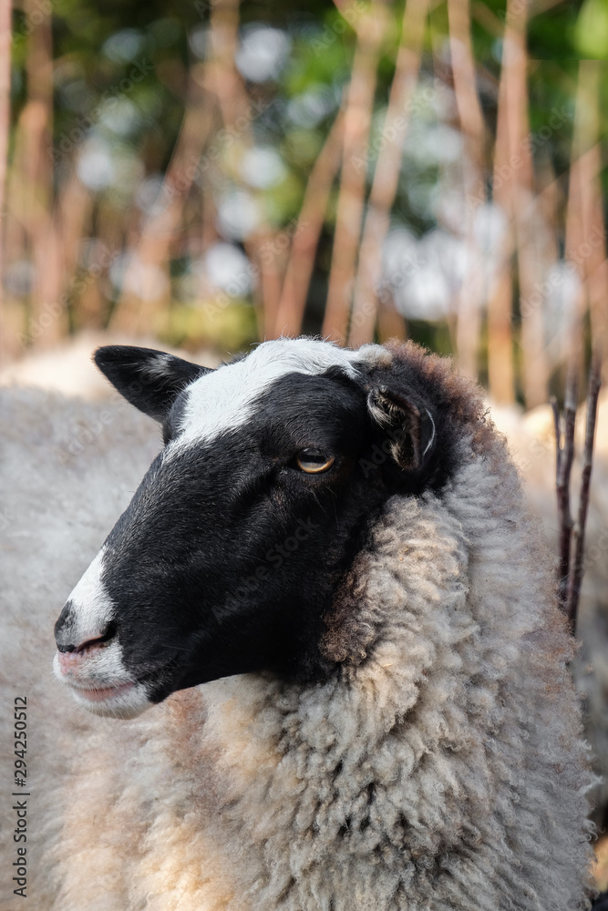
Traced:
<path fill-rule="evenodd" d="M 359 251 L 353 316 L 348 342 L 353 346 L 371 342 L 376 324 L 376 286 L 382 271 L 382 245 L 390 223 L 390 210 L 397 194 L 403 157 L 403 141 L 411 98 L 417 83 L 422 54 L 428 0 L 407 0 L 397 64 L 388 97 L 381 146 L 367 204 Z"/>

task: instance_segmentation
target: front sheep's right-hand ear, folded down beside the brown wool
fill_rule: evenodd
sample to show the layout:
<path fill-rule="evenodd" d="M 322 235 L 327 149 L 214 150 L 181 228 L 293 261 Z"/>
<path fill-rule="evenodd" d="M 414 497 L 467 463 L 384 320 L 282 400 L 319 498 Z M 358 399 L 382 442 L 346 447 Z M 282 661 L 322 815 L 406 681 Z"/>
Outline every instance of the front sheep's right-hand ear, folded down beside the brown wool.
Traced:
<path fill-rule="evenodd" d="M 385 446 L 404 471 L 419 471 L 435 444 L 435 421 L 417 397 L 380 386 L 367 395 L 373 420 L 386 433 Z"/>

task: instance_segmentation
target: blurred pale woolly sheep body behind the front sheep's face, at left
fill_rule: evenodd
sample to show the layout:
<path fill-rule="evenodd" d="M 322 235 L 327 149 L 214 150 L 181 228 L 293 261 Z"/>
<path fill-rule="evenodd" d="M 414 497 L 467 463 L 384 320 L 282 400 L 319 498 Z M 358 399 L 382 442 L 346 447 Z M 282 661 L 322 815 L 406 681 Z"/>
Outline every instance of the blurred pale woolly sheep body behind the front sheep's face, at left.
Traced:
<path fill-rule="evenodd" d="M 57 606 L 129 505 L 160 439 L 149 418 L 122 399 L 88 403 L 35 389 L 0 390 L 0 425 L 0 907 L 28 906 L 13 894 L 20 886 L 12 881 L 13 864 L 23 859 L 17 850 L 26 847 L 26 896 L 30 907 L 45 911 L 54 893 L 44 852 L 71 803 L 68 763 L 77 761 L 79 743 L 99 735 L 100 722 L 88 723 L 84 713 L 70 718 L 69 701 L 47 667 Z M 11 788 L 23 763 L 14 752 L 14 707 L 24 698 L 28 786 Z M 122 734 L 108 732 L 117 740 Z M 11 809 L 23 798 L 9 803 L 11 792 L 24 791 L 31 792 L 25 844 L 14 841 L 20 834 Z"/>

